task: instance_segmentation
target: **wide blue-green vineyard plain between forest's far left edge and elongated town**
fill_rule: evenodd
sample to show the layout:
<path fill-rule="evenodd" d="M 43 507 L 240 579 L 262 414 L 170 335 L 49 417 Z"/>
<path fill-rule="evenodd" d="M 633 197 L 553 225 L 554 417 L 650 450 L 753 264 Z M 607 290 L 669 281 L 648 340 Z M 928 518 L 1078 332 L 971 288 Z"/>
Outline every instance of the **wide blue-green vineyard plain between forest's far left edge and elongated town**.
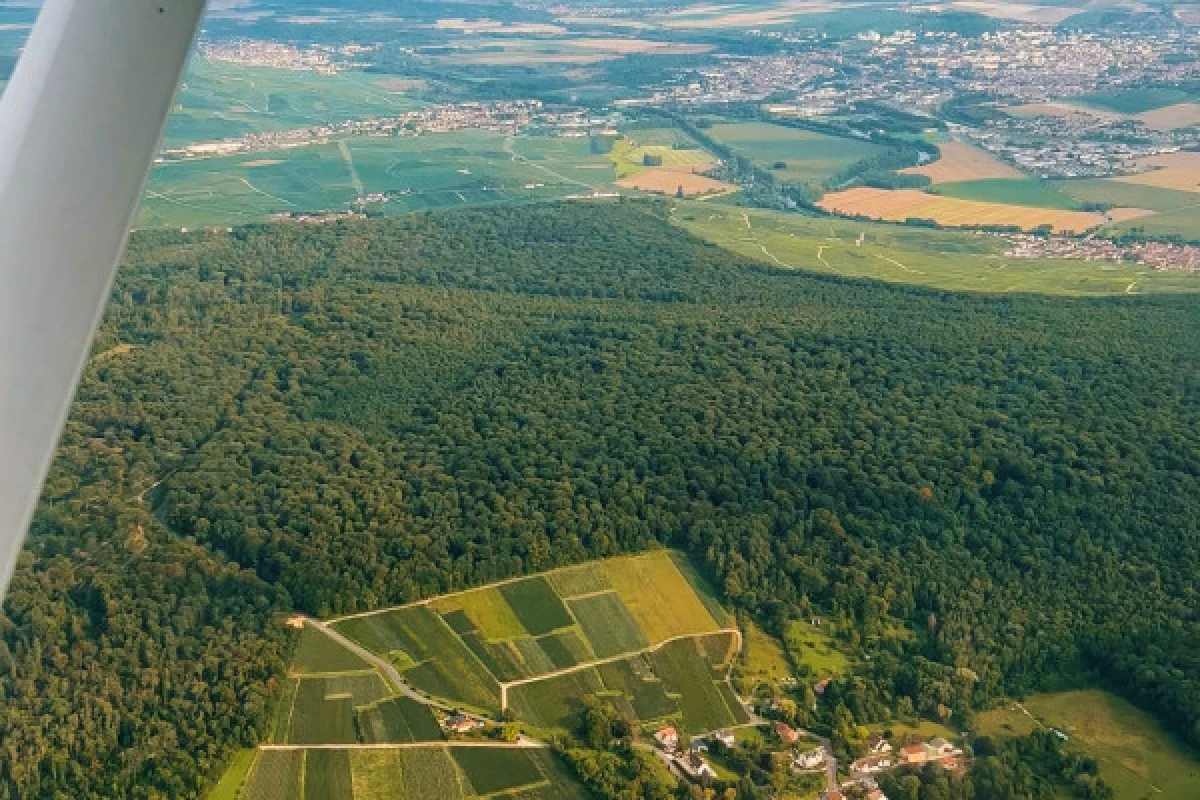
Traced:
<path fill-rule="evenodd" d="M 612 190 L 611 163 L 587 140 L 490 131 L 350 137 L 288 150 L 169 161 L 155 167 L 139 228 L 227 227 L 284 212 L 370 207 L 406 213 L 560 199 Z"/>

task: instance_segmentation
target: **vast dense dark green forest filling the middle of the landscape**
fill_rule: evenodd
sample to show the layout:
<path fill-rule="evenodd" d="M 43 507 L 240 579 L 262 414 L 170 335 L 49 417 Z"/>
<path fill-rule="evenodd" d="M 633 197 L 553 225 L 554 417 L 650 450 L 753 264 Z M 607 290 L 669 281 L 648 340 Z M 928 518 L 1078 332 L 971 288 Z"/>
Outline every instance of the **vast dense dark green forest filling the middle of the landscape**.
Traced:
<path fill-rule="evenodd" d="M 136 236 L 0 616 L 0 798 L 196 796 L 280 612 L 666 543 L 853 627 L 845 722 L 1102 681 L 1200 745 L 1193 300 L 781 272 L 666 216 Z"/>

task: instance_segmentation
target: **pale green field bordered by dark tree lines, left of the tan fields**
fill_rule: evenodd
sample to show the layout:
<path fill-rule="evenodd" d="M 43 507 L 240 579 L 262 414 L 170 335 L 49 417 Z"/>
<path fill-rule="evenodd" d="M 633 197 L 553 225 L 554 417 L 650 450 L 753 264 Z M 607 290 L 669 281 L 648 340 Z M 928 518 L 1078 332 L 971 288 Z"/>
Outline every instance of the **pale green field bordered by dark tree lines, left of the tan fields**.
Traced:
<path fill-rule="evenodd" d="M 878 145 L 769 122 L 731 122 L 706 131 L 780 182 L 823 184 L 856 161 L 882 152 Z M 776 163 L 782 169 L 776 169 Z"/>

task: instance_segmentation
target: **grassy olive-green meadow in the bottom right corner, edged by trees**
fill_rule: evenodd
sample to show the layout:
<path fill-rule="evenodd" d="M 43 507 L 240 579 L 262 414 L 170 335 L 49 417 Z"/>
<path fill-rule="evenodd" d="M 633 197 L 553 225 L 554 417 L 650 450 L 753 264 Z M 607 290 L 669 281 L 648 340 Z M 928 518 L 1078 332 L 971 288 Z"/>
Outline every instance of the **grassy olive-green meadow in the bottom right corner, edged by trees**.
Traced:
<path fill-rule="evenodd" d="M 1100 690 L 1034 694 L 977 717 L 978 732 L 1013 736 L 1039 727 L 1066 733 L 1069 747 L 1096 758 L 1117 800 L 1200 796 L 1200 760 L 1147 714 Z"/>

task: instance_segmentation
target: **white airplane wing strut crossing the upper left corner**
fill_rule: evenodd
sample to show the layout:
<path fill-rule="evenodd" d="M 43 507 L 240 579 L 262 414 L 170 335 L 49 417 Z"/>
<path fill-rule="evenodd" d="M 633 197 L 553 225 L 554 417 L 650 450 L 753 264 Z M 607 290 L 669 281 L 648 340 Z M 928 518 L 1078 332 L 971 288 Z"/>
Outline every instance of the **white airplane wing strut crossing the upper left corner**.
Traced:
<path fill-rule="evenodd" d="M 0 600 L 204 0 L 47 0 L 0 100 Z"/>

